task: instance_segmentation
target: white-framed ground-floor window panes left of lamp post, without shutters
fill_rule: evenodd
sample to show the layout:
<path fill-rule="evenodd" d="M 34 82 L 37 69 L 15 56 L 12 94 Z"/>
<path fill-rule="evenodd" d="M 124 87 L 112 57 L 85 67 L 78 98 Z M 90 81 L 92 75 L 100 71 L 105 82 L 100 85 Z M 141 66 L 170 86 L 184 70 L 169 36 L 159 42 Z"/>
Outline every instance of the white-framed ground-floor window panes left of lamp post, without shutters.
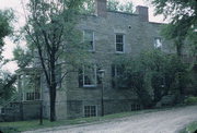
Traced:
<path fill-rule="evenodd" d="M 83 87 L 96 86 L 96 65 L 83 65 Z"/>

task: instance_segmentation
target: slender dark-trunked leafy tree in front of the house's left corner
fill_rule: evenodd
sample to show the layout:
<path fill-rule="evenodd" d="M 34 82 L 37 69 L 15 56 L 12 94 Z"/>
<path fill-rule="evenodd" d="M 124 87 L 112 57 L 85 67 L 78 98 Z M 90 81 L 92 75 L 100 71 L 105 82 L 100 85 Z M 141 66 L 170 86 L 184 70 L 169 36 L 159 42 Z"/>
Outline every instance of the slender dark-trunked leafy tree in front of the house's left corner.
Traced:
<path fill-rule="evenodd" d="M 30 0 L 24 31 L 28 47 L 39 59 L 49 88 L 50 121 L 56 120 L 58 66 L 74 63 L 79 53 L 81 33 L 74 28 L 83 0 Z M 70 59 L 70 60 L 69 60 Z"/>

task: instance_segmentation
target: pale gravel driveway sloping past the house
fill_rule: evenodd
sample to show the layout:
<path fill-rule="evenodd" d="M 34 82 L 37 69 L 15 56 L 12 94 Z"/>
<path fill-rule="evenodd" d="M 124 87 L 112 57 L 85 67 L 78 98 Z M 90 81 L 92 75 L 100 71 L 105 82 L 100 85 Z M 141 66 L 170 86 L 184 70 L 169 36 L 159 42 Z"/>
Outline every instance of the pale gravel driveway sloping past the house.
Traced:
<path fill-rule="evenodd" d="M 66 125 L 34 131 L 47 133 L 176 133 L 197 121 L 197 106 L 137 114 L 103 123 Z M 33 131 L 28 132 L 32 133 Z"/>

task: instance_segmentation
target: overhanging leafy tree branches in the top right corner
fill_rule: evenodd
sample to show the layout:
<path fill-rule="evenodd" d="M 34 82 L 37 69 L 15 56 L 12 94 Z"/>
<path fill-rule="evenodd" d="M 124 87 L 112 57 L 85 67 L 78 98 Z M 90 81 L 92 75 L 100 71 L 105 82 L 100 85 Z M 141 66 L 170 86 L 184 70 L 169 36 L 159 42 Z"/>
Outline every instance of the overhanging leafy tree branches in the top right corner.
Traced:
<path fill-rule="evenodd" d="M 165 19 L 171 17 L 171 23 L 164 27 L 163 33 L 167 39 L 174 40 L 178 57 L 188 37 L 187 41 L 192 41 L 196 52 L 197 1 L 152 0 L 152 4 L 155 7 L 155 14 L 163 14 Z"/>

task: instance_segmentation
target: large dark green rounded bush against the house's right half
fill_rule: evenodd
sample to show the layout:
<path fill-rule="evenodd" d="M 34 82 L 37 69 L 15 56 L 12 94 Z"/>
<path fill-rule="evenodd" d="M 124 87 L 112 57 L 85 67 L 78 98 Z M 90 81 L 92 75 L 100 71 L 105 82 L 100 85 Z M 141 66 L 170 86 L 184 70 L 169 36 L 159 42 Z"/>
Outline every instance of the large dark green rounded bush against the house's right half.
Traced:
<path fill-rule="evenodd" d="M 136 58 L 123 60 L 121 57 L 115 62 L 124 66 L 116 77 L 119 86 L 132 89 L 144 108 L 157 106 L 165 96 L 171 97 L 166 105 L 182 102 L 188 85 L 196 89 L 195 81 L 188 75 L 189 66 L 175 55 L 169 56 L 157 49 Z"/>

